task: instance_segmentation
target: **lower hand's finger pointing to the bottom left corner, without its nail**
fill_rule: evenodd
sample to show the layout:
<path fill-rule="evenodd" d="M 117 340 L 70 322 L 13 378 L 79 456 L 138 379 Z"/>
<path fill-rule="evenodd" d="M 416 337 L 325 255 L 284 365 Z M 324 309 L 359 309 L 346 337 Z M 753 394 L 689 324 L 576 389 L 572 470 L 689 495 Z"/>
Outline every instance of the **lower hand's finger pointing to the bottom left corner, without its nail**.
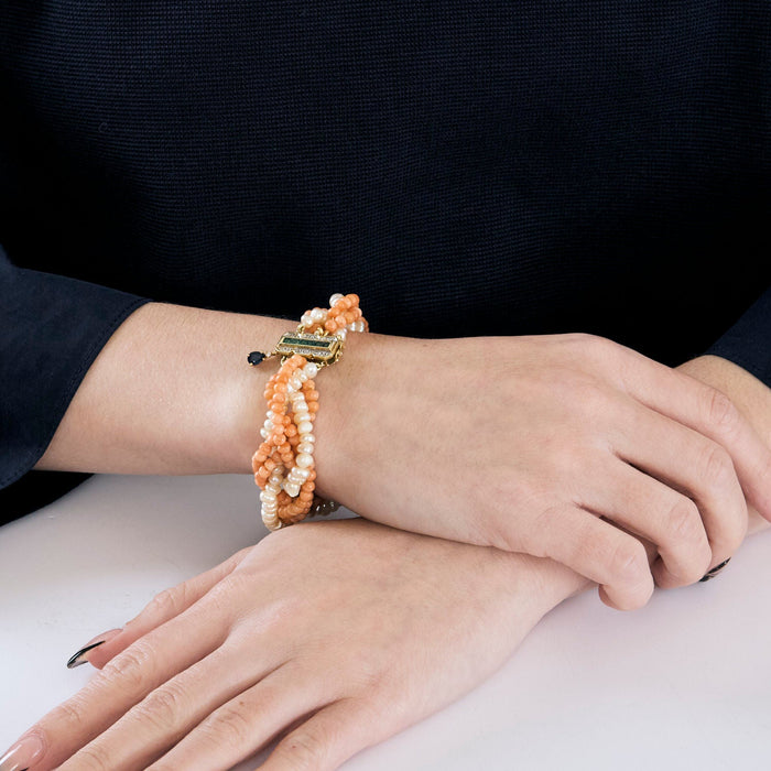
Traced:
<path fill-rule="evenodd" d="M 195 606 L 112 659 L 75 696 L 31 729 L 46 748 L 35 771 L 56 768 L 107 730 L 151 691 L 218 648 L 227 634 L 221 612 Z M 189 615 L 188 632 L 186 623 Z M 98 767 L 97 767 L 98 768 Z"/>

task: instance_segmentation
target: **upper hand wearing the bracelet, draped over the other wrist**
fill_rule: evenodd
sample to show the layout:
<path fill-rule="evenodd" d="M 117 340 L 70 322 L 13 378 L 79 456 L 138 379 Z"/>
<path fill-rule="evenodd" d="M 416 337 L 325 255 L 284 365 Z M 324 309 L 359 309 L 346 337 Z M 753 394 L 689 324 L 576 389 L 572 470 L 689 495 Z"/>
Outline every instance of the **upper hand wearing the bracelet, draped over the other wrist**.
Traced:
<path fill-rule="evenodd" d="M 771 520 L 771 454 L 728 398 L 610 340 L 348 346 L 319 376 L 318 488 L 362 517 L 552 557 L 619 609 L 729 557 L 745 495 Z"/>

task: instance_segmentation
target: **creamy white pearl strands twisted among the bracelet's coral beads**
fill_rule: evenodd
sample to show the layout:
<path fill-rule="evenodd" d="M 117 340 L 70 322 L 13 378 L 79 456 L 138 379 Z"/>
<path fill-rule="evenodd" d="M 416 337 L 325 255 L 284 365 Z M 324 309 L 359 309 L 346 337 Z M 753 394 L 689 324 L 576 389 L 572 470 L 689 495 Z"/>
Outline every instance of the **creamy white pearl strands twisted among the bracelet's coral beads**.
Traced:
<path fill-rule="evenodd" d="M 329 307 L 333 308 L 345 295 L 336 293 L 329 297 Z M 327 321 L 327 311 L 315 307 L 308 313 L 304 313 L 300 323 L 304 327 L 319 323 L 324 326 Z M 361 321 L 351 322 L 345 328 L 339 329 L 336 334 L 340 340 L 345 340 L 348 332 L 363 332 L 365 323 Z M 308 413 L 305 394 L 302 391 L 303 383 L 307 380 L 313 380 L 318 374 L 318 366 L 308 361 L 304 367 L 295 370 L 294 374 L 289 379 L 286 386 L 286 398 L 291 402 L 292 419 L 297 426 L 300 434 L 300 443 L 297 444 L 297 455 L 295 456 L 295 465 L 290 473 L 284 476 L 286 468 L 283 464 L 278 464 L 271 471 L 265 489 L 260 492 L 260 501 L 262 503 L 261 513 L 262 521 L 270 530 L 279 530 L 283 526 L 283 522 L 279 519 L 279 492 L 284 490 L 291 498 L 296 498 L 300 495 L 302 484 L 308 478 L 310 469 L 313 467 L 313 450 L 316 444 L 316 436 L 313 433 L 313 423 Z M 267 439 L 273 432 L 273 414 L 272 410 L 268 410 L 265 421 L 260 428 L 260 436 Z M 339 508 L 339 503 L 335 501 L 324 501 L 312 508 L 308 517 L 325 517 Z"/>

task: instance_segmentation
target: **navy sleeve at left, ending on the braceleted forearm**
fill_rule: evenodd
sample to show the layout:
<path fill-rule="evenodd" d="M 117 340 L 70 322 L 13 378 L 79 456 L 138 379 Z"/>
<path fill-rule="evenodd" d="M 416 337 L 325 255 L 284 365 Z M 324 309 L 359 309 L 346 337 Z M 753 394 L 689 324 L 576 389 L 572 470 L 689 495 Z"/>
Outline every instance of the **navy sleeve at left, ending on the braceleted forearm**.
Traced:
<path fill-rule="evenodd" d="M 0 248 L 0 523 L 85 478 L 31 469 L 97 354 L 145 302 L 86 281 L 18 268 Z"/>

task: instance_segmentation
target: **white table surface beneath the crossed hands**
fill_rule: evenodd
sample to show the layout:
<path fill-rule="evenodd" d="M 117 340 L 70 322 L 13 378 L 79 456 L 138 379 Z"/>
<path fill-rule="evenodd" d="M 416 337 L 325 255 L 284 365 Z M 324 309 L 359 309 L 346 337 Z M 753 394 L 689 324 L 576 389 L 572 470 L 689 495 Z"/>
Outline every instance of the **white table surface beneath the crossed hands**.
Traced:
<path fill-rule="evenodd" d="M 0 528 L 0 753 L 74 694 L 67 658 L 263 535 L 248 477 L 95 477 Z M 491 680 L 346 771 L 771 769 L 771 533 L 633 613 L 564 602 Z M 254 763 L 239 769 L 252 769 Z"/>

